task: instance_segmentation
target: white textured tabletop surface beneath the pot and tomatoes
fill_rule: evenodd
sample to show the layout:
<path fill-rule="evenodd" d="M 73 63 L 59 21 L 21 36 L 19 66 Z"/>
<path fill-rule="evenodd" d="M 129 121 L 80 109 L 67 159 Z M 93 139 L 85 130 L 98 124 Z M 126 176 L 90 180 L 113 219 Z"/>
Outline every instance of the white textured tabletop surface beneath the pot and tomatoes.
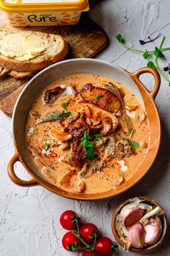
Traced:
<path fill-rule="evenodd" d="M 126 51 L 115 40 L 122 33 L 128 43 L 141 48 L 139 39 L 148 35 L 166 35 L 165 46 L 170 37 L 169 0 L 105 0 L 91 11 L 91 17 L 104 27 L 110 44 L 97 56 L 120 65 L 133 72 L 146 65 L 146 60 L 137 54 Z M 158 44 L 160 39 L 146 45 L 148 48 Z M 170 43 L 169 43 L 170 44 Z M 144 48 L 144 47 L 143 47 Z M 167 58 L 167 63 L 169 62 Z M 148 87 L 151 76 L 143 75 Z M 84 218 L 99 226 L 102 233 L 112 238 L 110 227 L 113 210 L 117 203 L 128 197 L 146 195 L 161 203 L 170 216 L 170 88 L 162 80 L 161 90 L 156 98 L 162 123 L 161 149 L 148 175 L 133 189 L 119 197 L 99 202 L 80 202 L 58 197 L 42 187 L 22 188 L 14 185 L 6 174 L 6 165 L 14 153 L 12 145 L 11 119 L 0 112 L 0 255 L 6 256 L 69 256 L 61 247 L 62 234 L 58 218 L 64 210 L 73 209 Z M 22 171 L 23 170 L 23 171 Z M 17 173 L 27 177 L 20 164 Z M 23 174 L 22 174 L 23 173 Z M 166 241 L 150 255 L 170 255 L 169 230 Z M 119 255 L 126 255 L 120 249 Z M 134 255 L 128 253 L 128 255 Z"/>

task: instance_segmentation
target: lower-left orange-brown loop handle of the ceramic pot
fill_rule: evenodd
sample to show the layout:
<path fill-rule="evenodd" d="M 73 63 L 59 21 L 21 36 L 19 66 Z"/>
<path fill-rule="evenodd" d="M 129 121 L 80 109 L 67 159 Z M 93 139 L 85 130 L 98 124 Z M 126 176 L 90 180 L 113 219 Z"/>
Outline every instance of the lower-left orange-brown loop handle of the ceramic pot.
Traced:
<path fill-rule="evenodd" d="M 14 172 L 14 163 L 16 163 L 17 161 L 20 161 L 22 163 L 21 156 L 19 155 L 18 152 L 16 152 L 12 156 L 12 158 L 10 159 L 10 161 L 8 163 L 8 174 L 9 174 L 9 178 L 12 180 L 12 182 L 14 182 L 14 184 L 17 184 L 22 187 L 31 187 L 31 186 L 37 185 L 37 182 L 35 181 L 34 178 L 30 179 L 29 181 L 24 181 L 17 177 L 17 175 Z"/>

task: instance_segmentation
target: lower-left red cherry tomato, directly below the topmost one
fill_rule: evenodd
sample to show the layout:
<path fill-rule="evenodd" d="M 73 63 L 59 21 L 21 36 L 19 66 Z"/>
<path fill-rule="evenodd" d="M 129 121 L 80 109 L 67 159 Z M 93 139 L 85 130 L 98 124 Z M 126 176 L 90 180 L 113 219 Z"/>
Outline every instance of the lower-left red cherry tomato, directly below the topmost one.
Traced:
<path fill-rule="evenodd" d="M 63 247 L 64 249 L 66 249 L 67 251 L 71 251 L 73 249 L 71 249 L 71 245 L 72 247 L 75 247 L 75 246 L 81 246 L 81 242 L 79 240 L 79 238 L 77 238 L 76 236 L 74 236 L 72 234 L 71 231 L 68 231 L 64 236 L 63 236 L 63 239 L 62 239 L 62 244 L 63 244 Z M 75 249 L 74 251 L 76 251 L 78 249 Z"/>

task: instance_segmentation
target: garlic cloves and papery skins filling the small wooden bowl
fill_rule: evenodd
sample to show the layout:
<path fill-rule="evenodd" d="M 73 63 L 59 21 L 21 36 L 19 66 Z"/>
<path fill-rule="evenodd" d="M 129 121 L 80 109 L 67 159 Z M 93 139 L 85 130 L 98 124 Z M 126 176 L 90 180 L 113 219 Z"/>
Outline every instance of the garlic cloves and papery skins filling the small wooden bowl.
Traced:
<path fill-rule="evenodd" d="M 129 200 L 116 216 L 115 229 L 124 244 L 125 252 L 130 246 L 142 249 L 158 242 L 162 223 L 158 217 L 164 214 L 160 207 L 138 197 Z"/>

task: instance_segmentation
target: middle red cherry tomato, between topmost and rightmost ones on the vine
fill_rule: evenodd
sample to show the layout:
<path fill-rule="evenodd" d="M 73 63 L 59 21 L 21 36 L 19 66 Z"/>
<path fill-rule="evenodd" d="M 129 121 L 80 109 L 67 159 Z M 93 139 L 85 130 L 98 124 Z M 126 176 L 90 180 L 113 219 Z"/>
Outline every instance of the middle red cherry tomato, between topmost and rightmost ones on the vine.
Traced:
<path fill-rule="evenodd" d="M 91 239 L 90 236 L 93 232 L 96 231 L 98 231 L 97 226 L 92 223 L 86 223 L 81 226 L 80 234 L 87 243 L 91 244 L 92 242 L 94 242 L 94 239 Z"/>

